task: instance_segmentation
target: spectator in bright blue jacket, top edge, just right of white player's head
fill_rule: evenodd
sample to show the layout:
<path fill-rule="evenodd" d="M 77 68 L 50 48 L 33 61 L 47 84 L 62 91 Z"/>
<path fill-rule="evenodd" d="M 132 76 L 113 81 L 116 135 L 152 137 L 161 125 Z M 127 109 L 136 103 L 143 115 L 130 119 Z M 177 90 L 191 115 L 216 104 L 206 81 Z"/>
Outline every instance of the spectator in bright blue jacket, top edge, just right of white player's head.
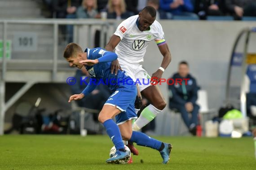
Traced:
<path fill-rule="evenodd" d="M 160 0 L 160 9 L 161 13 L 166 13 L 166 19 L 172 19 L 175 15 L 198 18 L 193 13 L 194 6 L 190 0 Z"/>

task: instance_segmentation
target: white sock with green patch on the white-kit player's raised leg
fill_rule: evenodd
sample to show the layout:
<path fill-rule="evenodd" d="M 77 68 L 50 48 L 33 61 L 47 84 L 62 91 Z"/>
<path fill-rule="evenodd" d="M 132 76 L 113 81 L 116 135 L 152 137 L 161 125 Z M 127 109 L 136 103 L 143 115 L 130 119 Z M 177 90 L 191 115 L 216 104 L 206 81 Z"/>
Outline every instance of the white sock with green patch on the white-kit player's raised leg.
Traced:
<path fill-rule="evenodd" d="M 132 130 L 138 131 L 146 124 L 150 123 L 162 110 L 155 108 L 153 105 L 147 106 L 142 110 L 140 117 L 133 123 Z"/>

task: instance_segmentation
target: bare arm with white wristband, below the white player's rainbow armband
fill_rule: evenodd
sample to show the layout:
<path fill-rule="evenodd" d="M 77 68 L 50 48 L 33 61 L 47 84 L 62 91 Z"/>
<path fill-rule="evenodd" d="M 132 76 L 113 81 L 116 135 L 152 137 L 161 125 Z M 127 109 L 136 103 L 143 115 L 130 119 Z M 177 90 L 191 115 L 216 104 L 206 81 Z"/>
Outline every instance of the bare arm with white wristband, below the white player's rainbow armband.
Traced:
<path fill-rule="evenodd" d="M 168 65 L 170 64 L 170 62 L 172 60 L 172 56 L 169 51 L 168 45 L 166 43 L 161 46 L 158 46 L 158 48 L 159 48 L 159 51 L 161 52 L 161 54 L 163 55 L 163 60 L 162 60 L 161 67 L 156 72 L 154 72 L 152 74 L 152 77 L 157 77 L 159 80 L 163 75 L 164 69 L 166 69 L 168 67 Z"/>

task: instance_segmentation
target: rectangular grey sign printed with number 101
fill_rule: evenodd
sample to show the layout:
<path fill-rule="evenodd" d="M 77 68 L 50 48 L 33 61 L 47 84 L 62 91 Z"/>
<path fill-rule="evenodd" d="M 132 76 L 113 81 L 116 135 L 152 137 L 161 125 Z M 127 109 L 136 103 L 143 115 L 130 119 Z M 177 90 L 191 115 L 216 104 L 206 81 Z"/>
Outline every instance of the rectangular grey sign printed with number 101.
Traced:
<path fill-rule="evenodd" d="M 37 34 L 15 32 L 13 34 L 13 51 L 37 51 Z"/>

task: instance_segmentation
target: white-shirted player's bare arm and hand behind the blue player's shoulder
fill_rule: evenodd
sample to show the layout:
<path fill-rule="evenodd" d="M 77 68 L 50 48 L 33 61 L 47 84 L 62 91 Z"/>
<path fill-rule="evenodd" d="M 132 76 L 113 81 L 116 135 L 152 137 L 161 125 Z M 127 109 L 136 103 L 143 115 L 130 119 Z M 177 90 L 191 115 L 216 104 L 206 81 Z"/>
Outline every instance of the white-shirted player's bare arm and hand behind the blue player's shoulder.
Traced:
<path fill-rule="evenodd" d="M 114 51 L 115 47 L 117 46 L 117 44 L 121 41 L 121 38 L 117 35 L 112 35 L 112 37 L 110 38 L 109 42 L 107 43 L 105 49 L 107 51 Z M 115 71 L 115 75 L 118 72 L 118 69 L 123 71 L 123 69 L 121 68 L 118 60 L 114 60 L 111 63 L 111 73 L 113 74 L 113 72 Z"/>

